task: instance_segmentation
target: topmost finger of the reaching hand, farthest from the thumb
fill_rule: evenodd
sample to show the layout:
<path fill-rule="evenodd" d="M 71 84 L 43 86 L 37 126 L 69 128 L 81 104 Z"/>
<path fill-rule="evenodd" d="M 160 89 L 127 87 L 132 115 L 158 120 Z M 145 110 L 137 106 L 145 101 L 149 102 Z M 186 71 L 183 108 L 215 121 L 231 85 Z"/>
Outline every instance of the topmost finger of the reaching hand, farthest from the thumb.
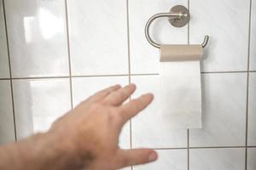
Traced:
<path fill-rule="evenodd" d="M 113 86 L 110 86 L 108 88 L 105 88 L 99 92 L 97 92 L 96 94 L 90 96 L 89 100 L 90 101 L 99 101 L 99 100 L 102 100 L 104 99 L 105 97 L 108 96 L 108 94 L 118 90 L 119 88 L 121 88 L 121 86 L 119 84 L 116 84 L 116 85 L 113 85 Z"/>

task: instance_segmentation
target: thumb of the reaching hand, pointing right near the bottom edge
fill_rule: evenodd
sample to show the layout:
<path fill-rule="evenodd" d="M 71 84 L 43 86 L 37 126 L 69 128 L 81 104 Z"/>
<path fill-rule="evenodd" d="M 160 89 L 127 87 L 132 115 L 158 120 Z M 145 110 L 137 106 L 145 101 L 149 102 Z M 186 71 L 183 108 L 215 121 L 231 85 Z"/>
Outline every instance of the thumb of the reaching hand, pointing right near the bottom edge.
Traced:
<path fill-rule="evenodd" d="M 157 160 L 157 153 L 149 149 L 119 150 L 118 167 L 144 164 Z"/>

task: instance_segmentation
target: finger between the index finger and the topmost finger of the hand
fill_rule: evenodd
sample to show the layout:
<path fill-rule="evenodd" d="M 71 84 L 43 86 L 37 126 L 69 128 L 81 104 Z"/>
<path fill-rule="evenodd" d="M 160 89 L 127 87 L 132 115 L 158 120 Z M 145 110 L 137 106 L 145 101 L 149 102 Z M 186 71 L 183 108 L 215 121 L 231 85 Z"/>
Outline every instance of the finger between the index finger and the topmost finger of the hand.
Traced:
<path fill-rule="evenodd" d="M 121 105 L 125 99 L 128 99 L 131 94 L 135 91 L 135 84 L 125 86 L 125 88 L 119 88 L 113 93 L 109 94 L 104 101 L 110 105 Z"/>

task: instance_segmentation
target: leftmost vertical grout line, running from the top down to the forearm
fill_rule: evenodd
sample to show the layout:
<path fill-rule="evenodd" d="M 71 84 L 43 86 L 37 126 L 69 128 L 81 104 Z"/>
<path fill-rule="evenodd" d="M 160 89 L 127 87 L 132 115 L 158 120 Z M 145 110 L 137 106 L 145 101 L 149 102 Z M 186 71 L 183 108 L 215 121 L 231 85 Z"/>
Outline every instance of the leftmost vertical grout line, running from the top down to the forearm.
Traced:
<path fill-rule="evenodd" d="M 3 0 L 3 20 L 5 26 L 5 36 L 6 36 L 6 43 L 7 43 L 7 53 L 8 53 L 8 60 L 9 60 L 9 77 L 10 77 L 10 88 L 11 88 L 11 97 L 12 97 L 12 109 L 13 109 L 13 118 L 14 118 L 14 128 L 15 128 L 15 141 L 17 141 L 17 130 L 16 130 L 16 119 L 15 119 L 15 99 L 14 99 L 14 87 L 13 87 L 13 78 L 12 78 L 12 70 L 11 70 L 11 59 L 9 54 L 9 37 L 8 37 L 8 30 L 7 30 L 7 21 L 6 21 L 6 11 L 5 11 L 5 3 Z"/>

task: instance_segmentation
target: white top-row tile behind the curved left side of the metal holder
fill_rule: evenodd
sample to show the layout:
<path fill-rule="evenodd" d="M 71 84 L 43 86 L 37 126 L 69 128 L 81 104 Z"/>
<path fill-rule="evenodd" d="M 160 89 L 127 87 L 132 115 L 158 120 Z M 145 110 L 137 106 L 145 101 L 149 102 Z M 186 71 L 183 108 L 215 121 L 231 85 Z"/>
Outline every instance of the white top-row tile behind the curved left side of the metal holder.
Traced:
<path fill-rule="evenodd" d="M 147 4 L 147 5 L 145 5 Z M 144 26 L 157 13 L 168 12 L 174 5 L 187 6 L 187 0 L 129 0 L 131 73 L 158 73 L 158 48 L 151 46 L 144 36 Z M 168 20 L 155 20 L 151 26 L 151 37 L 161 43 L 187 43 L 188 28 L 176 28 Z"/>

